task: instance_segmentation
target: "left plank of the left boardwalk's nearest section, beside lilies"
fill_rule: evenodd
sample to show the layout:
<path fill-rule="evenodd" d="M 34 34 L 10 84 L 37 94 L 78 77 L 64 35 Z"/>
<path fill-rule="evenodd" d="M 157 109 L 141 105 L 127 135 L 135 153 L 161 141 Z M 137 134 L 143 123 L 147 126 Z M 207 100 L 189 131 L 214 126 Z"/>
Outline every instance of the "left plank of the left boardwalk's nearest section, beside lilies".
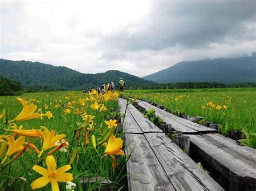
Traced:
<path fill-rule="evenodd" d="M 175 190 L 143 134 L 125 133 L 129 190 Z M 133 150 L 133 152 L 132 152 Z"/>

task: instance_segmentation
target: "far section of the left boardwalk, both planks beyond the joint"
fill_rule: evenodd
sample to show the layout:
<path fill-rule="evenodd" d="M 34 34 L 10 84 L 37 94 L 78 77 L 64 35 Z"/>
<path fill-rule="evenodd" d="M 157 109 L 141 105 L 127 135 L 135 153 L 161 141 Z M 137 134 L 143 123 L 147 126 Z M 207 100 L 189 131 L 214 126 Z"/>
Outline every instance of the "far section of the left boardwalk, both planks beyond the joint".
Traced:
<path fill-rule="evenodd" d="M 126 105 L 126 100 L 119 98 L 118 99 L 120 102 L 120 111 L 123 111 L 124 105 Z M 126 106 L 125 106 L 126 107 Z M 127 112 L 129 111 L 129 112 Z M 133 127 L 129 124 L 137 123 L 139 126 L 140 130 L 145 133 L 145 132 L 163 132 L 160 130 L 156 125 L 154 125 L 149 119 L 145 118 L 144 115 L 137 110 L 132 104 L 129 104 L 127 107 L 126 111 L 126 117 L 124 119 L 126 126 L 124 128 L 125 132 L 127 133 L 140 133 L 140 131 L 137 129 L 137 127 Z"/>

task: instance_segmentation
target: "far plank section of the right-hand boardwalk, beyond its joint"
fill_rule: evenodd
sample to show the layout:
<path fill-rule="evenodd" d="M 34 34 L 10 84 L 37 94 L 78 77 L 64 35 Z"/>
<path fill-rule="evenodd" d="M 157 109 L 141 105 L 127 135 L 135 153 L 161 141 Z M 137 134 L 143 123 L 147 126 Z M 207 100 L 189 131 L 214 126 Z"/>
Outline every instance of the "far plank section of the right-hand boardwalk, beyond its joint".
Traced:
<path fill-rule="evenodd" d="M 139 105 L 149 110 L 153 108 L 156 112 L 156 115 L 163 118 L 167 124 L 171 124 L 172 128 L 176 131 L 181 131 L 184 134 L 199 134 L 199 133 L 212 133 L 218 132 L 216 129 L 207 128 L 203 125 L 199 125 L 197 123 L 193 123 L 181 117 L 177 117 L 175 115 L 170 114 L 167 111 L 154 107 L 150 103 L 138 100 Z"/>

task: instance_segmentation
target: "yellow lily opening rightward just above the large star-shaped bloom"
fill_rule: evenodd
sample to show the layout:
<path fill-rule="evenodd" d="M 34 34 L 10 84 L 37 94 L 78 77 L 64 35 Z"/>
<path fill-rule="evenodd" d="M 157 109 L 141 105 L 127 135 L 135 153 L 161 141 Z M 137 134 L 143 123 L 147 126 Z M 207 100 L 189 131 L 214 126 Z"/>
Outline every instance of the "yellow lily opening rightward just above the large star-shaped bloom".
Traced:
<path fill-rule="evenodd" d="M 55 130 L 51 130 L 49 131 L 47 128 L 45 128 L 44 126 L 41 126 L 41 128 L 44 130 L 44 133 L 42 134 L 43 137 L 43 147 L 42 147 L 42 151 L 41 153 L 38 155 L 38 157 L 41 157 L 41 154 L 48 150 L 51 147 L 55 147 L 57 146 L 55 143 L 66 137 L 64 134 L 60 134 L 60 135 L 56 135 L 55 136 Z"/>

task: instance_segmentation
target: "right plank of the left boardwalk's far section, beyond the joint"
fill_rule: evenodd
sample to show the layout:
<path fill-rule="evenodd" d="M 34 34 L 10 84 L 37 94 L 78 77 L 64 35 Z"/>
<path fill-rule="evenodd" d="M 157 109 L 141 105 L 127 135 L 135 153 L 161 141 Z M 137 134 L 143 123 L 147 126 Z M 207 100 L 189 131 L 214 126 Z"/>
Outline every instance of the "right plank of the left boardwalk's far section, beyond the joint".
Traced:
<path fill-rule="evenodd" d="M 119 98 L 119 100 L 123 103 L 126 103 L 126 100 Z M 134 118 L 134 121 L 137 122 L 140 129 L 143 133 L 145 132 L 163 132 L 156 125 L 154 125 L 149 119 L 145 118 L 144 115 L 136 109 L 132 104 L 128 105 L 127 110 L 130 111 L 130 114 Z M 127 111 L 126 111 L 127 113 Z M 126 119 L 125 119 L 126 120 Z M 129 120 L 132 120 L 129 118 Z"/>

